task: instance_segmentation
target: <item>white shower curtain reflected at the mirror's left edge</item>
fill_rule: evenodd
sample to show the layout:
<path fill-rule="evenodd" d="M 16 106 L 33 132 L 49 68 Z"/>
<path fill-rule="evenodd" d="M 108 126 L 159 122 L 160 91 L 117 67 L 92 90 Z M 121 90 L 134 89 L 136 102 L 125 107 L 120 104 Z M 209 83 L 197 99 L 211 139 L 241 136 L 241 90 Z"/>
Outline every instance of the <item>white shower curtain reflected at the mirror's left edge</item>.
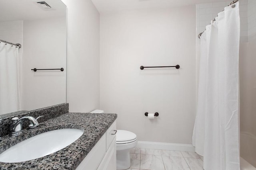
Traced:
<path fill-rule="evenodd" d="M 18 48 L 0 43 L 0 116 L 20 110 Z"/>

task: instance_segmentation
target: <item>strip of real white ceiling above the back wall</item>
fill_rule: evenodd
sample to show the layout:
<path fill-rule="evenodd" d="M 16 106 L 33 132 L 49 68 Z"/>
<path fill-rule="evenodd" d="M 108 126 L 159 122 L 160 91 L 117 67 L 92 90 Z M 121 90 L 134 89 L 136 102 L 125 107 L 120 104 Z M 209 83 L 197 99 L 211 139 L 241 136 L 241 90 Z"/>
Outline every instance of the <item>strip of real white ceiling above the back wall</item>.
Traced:
<path fill-rule="evenodd" d="M 175 8 L 224 1 L 226 0 L 92 0 L 101 14 L 124 10 Z"/>

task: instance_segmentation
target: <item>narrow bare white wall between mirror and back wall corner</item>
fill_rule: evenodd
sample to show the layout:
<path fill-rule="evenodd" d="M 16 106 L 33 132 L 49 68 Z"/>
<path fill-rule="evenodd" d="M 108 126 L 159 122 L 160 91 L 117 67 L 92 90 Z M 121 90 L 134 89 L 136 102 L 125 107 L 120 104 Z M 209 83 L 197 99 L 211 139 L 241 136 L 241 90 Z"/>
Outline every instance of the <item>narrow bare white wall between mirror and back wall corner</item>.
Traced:
<path fill-rule="evenodd" d="M 100 106 L 100 14 L 90 0 L 62 0 L 67 6 L 67 102 L 70 112 Z"/>

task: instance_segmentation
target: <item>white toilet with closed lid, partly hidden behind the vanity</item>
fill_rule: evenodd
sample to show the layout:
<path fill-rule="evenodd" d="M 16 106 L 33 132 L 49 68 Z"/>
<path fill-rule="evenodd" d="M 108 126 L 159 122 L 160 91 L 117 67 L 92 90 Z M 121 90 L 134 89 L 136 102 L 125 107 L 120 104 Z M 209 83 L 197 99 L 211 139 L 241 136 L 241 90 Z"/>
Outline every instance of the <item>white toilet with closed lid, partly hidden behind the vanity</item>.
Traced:
<path fill-rule="evenodd" d="M 104 113 L 103 110 L 94 110 L 90 113 Z M 130 131 L 117 130 L 116 132 L 116 169 L 126 170 L 131 166 L 130 149 L 137 145 L 136 134 Z"/>

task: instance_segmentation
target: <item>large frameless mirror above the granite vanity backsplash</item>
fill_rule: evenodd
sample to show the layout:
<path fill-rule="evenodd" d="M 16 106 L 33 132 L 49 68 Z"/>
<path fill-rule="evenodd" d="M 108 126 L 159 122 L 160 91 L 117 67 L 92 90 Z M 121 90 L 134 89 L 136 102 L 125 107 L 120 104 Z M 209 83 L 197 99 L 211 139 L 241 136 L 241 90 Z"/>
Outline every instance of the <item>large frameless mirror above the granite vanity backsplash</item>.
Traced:
<path fill-rule="evenodd" d="M 0 117 L 66 103 L 66 6 L 61 0 L 0 0 L 0 39 Z M 9 60 L 12 48 L 18 49 L 15 61 Z M 14 70 L 17 76 L 10 76 Z"/>

